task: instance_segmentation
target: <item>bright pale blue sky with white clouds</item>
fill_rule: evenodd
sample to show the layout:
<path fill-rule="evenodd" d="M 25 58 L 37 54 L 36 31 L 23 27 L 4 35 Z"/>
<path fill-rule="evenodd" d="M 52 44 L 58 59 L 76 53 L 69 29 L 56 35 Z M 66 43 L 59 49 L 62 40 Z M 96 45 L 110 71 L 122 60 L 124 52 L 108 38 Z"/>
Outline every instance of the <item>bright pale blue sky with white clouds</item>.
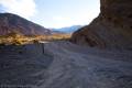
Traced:
<path fill-rule="evenodd" d="M 0 12 L 19 14 L 45 28 L 88 24 L 99 14 L 100 0 L 0 0 Z"/>

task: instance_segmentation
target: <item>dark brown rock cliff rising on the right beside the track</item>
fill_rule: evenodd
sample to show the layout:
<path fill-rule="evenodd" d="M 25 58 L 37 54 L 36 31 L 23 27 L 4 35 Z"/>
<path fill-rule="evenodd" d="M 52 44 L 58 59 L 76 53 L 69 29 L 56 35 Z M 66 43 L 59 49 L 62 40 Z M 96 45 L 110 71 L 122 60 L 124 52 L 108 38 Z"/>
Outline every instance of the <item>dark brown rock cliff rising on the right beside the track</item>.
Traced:
<path fill-rule="evenodd" d="M 72 42 L 97 46 L 132 48 L 132 0 L 101 0 L 100 14 L 76 31 Z"/>

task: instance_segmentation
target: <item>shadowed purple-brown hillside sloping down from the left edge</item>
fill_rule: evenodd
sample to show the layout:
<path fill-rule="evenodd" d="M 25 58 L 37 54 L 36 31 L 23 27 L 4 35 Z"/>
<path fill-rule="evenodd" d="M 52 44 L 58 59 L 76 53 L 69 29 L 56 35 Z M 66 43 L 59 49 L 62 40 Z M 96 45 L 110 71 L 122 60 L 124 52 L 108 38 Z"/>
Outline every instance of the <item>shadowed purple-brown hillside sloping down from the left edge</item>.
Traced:
<path fill-rule="evenodd" d="M 0 13 L 0 35 L 6 35 L 12 31 L 20 32 L 25 35 L 43 35 L 52 33 L 52 31 L 19 15 Z"/>

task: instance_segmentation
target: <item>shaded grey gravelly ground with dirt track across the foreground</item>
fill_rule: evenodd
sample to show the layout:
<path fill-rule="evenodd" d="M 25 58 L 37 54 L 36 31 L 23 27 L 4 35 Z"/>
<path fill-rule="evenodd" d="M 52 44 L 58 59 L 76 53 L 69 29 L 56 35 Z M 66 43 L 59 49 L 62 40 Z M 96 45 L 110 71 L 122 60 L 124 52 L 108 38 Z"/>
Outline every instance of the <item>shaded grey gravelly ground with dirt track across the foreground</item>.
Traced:
<path fill-rule="evenodd" d="M 63 41 L 0 46 L 0 85 L 132 88 L 132 51 L 100 51 Z"/>

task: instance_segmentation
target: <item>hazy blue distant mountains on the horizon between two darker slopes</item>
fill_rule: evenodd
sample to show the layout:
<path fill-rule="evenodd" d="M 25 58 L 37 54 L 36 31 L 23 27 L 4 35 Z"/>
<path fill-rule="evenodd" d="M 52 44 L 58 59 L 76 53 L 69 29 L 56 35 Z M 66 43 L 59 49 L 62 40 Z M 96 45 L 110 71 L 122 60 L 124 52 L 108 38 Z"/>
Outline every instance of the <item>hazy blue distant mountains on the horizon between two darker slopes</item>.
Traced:
<path fill-rule="evenodd" d="M 54 32 L 59 32 L 59 33 L 73 33 L 73 32 L 79 30 L 80 28 L 82 28 L 82 25 L 73 25 L 73 26 L 52 29 L 52 30 Z"/>

